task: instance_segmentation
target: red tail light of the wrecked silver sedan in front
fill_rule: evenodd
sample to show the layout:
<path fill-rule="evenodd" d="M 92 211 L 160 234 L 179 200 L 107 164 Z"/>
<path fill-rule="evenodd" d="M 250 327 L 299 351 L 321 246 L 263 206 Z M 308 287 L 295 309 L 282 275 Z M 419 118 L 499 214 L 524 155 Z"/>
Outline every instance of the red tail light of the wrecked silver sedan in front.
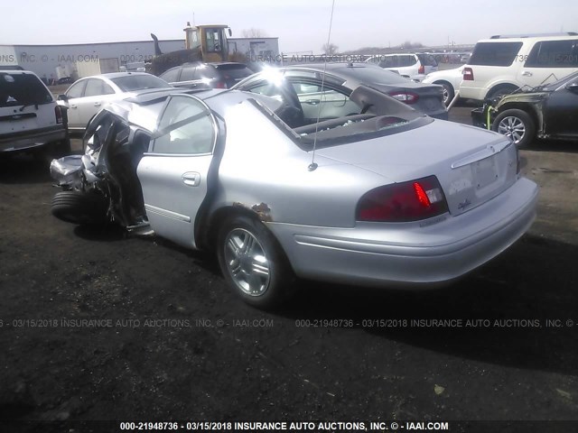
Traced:
<path fill-rule="evenodd" d="M 440 182 L 429 176 L 371 189 L 359 200 L 356 218 L 399 223 L 436 217 L 447 211 Z"/>

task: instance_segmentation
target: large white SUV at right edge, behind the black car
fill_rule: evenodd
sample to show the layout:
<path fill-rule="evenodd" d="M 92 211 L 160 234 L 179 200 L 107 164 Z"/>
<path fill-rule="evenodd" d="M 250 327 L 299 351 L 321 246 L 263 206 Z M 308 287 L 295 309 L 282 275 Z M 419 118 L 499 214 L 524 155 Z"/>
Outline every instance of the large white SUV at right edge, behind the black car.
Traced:
<path fill-rule="evenodd" d="M 463 68 L 460 97 L 483 100 L 552 83 L 578 70 L 578 33 L 479 41 Z"/>

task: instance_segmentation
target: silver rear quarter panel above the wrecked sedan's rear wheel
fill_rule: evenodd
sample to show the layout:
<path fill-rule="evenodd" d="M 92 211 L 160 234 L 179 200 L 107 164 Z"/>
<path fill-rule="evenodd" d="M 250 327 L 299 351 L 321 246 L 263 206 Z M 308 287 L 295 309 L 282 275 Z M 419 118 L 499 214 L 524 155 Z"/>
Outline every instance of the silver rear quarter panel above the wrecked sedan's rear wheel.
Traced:
<path fill-rule="evenodd" d="M 389 183 L 383 176 L 317 156 L 293 140 L 246 101 L 230 106 L 226 147 L 211 211 L 266 204 L 268 220 L 310 226 L 352 227 L 361 195 Z"/>

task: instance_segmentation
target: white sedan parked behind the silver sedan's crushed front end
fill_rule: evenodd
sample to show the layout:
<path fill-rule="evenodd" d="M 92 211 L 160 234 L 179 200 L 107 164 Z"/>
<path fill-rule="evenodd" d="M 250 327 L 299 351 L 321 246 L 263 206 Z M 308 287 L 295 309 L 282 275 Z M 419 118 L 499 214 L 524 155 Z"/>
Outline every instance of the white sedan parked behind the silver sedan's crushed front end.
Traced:
<path fill-rule="evenodd" d="M 111 72 L 80 78 L 58 99 L 68 108 L 69 130 L 83 132 L 89 120 L 108 103 L 158 88 L 172 86 L 145 72 Z"/>

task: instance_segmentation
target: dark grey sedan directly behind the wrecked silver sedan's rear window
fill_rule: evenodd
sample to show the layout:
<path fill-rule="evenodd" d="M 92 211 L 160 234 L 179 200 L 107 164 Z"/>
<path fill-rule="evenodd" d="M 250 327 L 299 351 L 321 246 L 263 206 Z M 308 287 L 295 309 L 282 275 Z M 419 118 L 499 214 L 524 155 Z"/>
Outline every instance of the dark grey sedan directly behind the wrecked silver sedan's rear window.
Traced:
<path fill-rule="evenodd" d="M 323 78 L 325 71 L 325 78 Z M 424 85 L 368 63 L 328 63 L 268 69 L 238 83 L 247 90 L 269 97 L 284 98 L 294 106 L 296 125 L 357 113 L 359 107 L 348 102 L 351 92 L 367 85 L 386 93 L 416 110 L 447 119 L 443 88 Z M 321 105 L 321 110 L 320 110 Z M 293 124 L 292 124 L 293 125 Z"/>

